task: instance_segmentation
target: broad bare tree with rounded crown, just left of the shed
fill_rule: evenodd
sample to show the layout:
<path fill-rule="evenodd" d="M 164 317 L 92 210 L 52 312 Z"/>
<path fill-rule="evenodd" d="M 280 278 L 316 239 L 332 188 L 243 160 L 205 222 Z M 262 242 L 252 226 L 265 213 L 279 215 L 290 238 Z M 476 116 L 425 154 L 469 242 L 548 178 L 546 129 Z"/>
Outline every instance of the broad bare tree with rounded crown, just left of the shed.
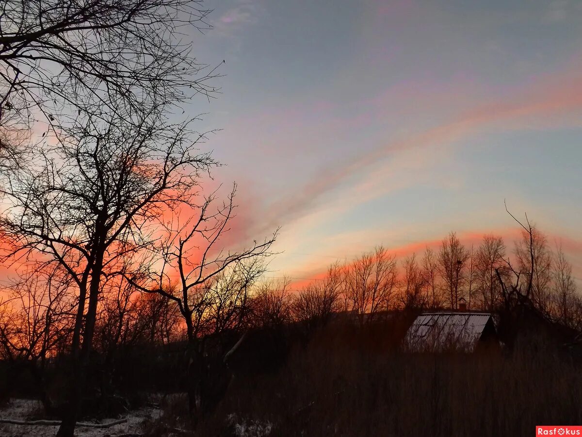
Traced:
<path fill-rule="evenodd" d="M 360 325 L 390 307 L 398 284 L 395 256 L 379 246 L 374 252 L 356 258 L 345 269 L 346 297 Z"/>

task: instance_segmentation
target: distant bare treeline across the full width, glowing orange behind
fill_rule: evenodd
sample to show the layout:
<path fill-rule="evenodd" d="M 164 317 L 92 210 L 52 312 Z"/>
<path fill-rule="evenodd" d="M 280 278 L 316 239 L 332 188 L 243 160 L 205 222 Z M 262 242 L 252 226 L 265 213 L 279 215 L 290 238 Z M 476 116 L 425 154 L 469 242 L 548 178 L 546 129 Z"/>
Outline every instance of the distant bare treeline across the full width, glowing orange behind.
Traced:
<path fill-rule="evenodd" d="M 420 258 L 413 253 L 399 261 L 378 247 L 330 266 L 324 278 L 301 290 L 292 290 L 290 279 L 265 280 L 264 263 L 251 258 L 196 284 L 185 301 L 176 297 L 179 287 L 144 291 L 116 276 L 102 283 L 93 347 L 110 367 L 119 351 L 144 345 L 196 345 L 202 360 L 205 339 L 223 334 L 226 343 L 215 350 L 222 355 L 244 332 L 290 323 L 308 332 L 335 317 L 364 325 L 398 310 L 459 309 L 460 299 L 469 310 L 500 311 L 509 287 L 525 294 L 528 284 L 528 301 L 538 311 L 579 330 L 582 302 L 561 248 L 552 251 L 545 235 L 531 228 L 508 252 L 501 237 L 485 235 L 476 248 L 467 248 L 451 232 L 437 251 L 427 248 Z M 66 274 L 48 266 L 23 274 L 4 290 L 8 299 L 0 305 L 0 358 L 29 362 L 39 375 L 51 360 L 71 353 L 78 298 Z"/>

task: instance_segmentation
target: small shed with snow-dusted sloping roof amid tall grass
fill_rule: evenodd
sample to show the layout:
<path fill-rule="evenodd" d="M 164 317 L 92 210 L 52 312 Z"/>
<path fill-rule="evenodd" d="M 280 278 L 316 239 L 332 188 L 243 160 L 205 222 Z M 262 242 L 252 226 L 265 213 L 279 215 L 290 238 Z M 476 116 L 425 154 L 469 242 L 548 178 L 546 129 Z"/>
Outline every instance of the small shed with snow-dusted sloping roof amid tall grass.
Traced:
<path fill-rule="evenodd" d="M 460 350 L 499 345 L 491 313 L 431 312 L 419 315 L 410 326 L 404 347 L 413 352 Z"/>

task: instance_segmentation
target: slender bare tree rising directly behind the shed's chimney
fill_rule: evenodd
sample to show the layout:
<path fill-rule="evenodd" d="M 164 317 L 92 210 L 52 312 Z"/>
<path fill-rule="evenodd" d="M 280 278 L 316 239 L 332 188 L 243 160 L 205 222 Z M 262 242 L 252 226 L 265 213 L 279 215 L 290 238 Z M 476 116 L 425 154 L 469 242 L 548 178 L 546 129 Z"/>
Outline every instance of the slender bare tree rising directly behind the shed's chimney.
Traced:
<path fill-rule="evenodd" d="M 442 241 L 438 261 L 451 309 L 457 309 L 459 299 L 463 297 L 467 259 L 469 259 L 467 249 L 461 244 L 457 234 L 450 232 Z"/>

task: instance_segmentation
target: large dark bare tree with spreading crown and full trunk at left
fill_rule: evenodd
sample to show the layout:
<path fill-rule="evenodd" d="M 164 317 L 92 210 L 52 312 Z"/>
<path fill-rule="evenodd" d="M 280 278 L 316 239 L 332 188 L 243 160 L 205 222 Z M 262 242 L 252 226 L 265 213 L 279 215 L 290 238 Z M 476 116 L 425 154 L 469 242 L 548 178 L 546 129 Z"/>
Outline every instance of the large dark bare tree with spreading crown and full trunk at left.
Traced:
<path fill-rule="evenodd" d="M 60 436 L 74 432 L 93 345 L 102 284 L 151 244 L 152 223 L 193 203 L 215 161 L 197 151 L 201 135 L 186 125 L 90 121 L 46 145 L 4 189 L 11 207 L 0 225 L 13 255 L 40 254 L 76 287 L 71 384 Z"/>

